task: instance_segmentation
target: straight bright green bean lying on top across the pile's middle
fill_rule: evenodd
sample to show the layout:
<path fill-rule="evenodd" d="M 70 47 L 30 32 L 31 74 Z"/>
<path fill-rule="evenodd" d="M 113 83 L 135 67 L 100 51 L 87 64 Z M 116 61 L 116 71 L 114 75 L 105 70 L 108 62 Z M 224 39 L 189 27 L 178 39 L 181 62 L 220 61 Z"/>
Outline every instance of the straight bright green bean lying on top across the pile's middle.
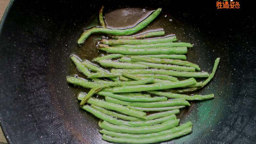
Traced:
<path fill-rule="evenodd" d="M 128 93 L 128 92 L 141 92 L 141 91 L 151 91 L 151 90 L 163 90 L 163 89 L 184 87 L 184 86 L 193 85 L 196 83 L 197 83 L 197 81 L 194 78 L 189 78 L 186 80 L 176 81 L 176 82 L 115 87 L 115 88 L 113 88 L 112 92 L 113 93 Z"/>

